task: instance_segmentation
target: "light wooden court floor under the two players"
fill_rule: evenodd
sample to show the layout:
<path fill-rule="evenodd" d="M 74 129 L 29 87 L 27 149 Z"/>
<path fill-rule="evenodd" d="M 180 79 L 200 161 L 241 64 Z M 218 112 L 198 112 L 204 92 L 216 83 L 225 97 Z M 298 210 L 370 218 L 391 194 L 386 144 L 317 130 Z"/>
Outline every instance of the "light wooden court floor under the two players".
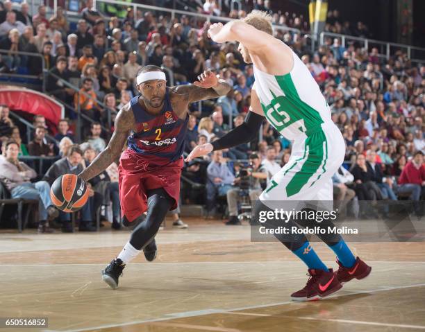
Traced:
<path fill-rule="evenodd" d="M 2 331 L 424 331 L 425 243 L 350 243 L 372 265 L 330 299 L 294 303 L 306 267 L 280 243 L 251 243 L 249 227 L 185 219 L 166 228 L 159 253 L 124 270 L 119 288 L 100 270 L 128 231 L 0 232 L 0 317 L 48 317 L 46 329 Z M 322 243 L 318 254 L 335 268 Z"/>

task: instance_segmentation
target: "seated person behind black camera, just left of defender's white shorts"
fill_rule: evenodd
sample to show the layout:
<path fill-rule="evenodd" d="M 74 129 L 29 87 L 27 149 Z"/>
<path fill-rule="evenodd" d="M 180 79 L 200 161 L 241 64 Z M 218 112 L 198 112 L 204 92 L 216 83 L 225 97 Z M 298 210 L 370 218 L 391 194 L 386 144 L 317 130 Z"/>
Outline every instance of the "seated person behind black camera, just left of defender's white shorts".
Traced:
<path fill-rule="evenodd" d="M 253 203 L 258 200 L 260 194 L 263 192 L 263 187 L 261 183 L 267 179 L 267 171 L 263 165 L 261 165 L 261 160 L 253 153 L 249 156 L 249 165 L 251 168 L 247 171 L 247 176 L 249 177 L 249 200 L 251 200 L 251 207 Z M 237 175 L 233 183 L 238 184 L 241 181 L 241 176 Z M 238 188 L 232 188 L 227 191 L 227 204 L 228 204 L 228 214 L 230 216 L 229 220 L 226 222 L 226 225 L 240 225 L 238 219 L 238 196 L 240 194 Z"/>

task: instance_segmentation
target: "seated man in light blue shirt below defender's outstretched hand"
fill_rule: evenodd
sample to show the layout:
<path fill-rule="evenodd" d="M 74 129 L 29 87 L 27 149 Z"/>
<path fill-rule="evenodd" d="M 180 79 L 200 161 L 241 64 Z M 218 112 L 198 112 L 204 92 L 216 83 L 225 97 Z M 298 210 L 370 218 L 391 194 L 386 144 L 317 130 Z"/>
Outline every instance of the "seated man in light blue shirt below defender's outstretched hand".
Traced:
<path fill-rule="evenodd" d="M 235 176 L 223 158 L 223 152 L 216 150 L 213 152 L 213 160 L 207 167 L 207 184 L 206 184 L 206 209 L 208 213 L 215 207 L 215 200 L 218 196 L 226 195 L 227 191 L 232 188 Z"/>

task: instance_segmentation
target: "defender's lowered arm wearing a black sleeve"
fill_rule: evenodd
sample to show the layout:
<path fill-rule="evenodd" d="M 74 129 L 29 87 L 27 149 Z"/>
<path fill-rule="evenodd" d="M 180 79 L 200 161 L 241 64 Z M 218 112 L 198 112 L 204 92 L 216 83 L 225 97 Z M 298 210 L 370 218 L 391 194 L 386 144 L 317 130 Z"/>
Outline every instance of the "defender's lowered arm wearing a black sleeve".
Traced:
<path fill-rule="evenodd" d="M 195 148 L 190 152 L 185 161 L 191 161 L 196 157 L 201 157 L 203 155 L 208 155 L 213 150 L 222 150 L 226 148 L 233 148 L 233 146 L 238 146 L 243 143 L 248 143 L 256 138 L 258 130 L 260 130 L 261 125 L 265 119 L 263 110 L 261 108 L 260 101 L 255 90 L 251 91 L 251 107 L 247 117 L 245 118 L 244 123 L 234 128 L 222 138 L 213 141 L 213 143 L 206 143 L 200 146 L 195 146 Z"/>

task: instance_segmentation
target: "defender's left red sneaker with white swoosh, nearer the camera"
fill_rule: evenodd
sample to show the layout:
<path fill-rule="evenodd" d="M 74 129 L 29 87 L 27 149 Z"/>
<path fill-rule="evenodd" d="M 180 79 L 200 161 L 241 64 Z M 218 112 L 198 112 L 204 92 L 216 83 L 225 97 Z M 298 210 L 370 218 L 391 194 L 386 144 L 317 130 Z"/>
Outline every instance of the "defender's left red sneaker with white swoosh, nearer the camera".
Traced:
<path fill-rule="evenodd" d="M 329 272 L 310 269 L 307 275 L 310 275 L 310 278 L 308 278 L 306 287 L 291 295 L 293 301 L 315 301 L 342 288 L 332 269 L 329 269 Z"/>

